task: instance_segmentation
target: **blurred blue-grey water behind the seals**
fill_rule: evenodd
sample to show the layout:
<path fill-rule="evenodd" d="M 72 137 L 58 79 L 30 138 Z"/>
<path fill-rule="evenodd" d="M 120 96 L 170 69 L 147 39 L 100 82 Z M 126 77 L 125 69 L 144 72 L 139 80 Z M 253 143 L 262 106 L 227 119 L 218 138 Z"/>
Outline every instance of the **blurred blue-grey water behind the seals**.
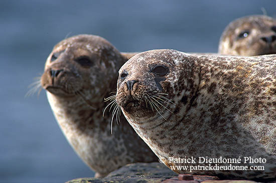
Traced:
<path fill-rule="evenodd" d="M 0 0 L 0 182 L 64 182 L 94 173 L 69 146 L 45 91 L 25 98 L 52 47 L 100 35 L 120 51 L 216 52 L 233 19 L 276 16 L 275 0 Z"/>

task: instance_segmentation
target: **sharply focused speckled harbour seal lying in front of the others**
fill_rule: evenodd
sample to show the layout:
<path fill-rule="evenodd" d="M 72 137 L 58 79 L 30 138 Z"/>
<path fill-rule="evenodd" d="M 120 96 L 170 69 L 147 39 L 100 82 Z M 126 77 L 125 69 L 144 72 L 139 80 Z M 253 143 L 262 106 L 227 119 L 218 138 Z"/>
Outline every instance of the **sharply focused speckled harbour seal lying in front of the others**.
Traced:
<path fill-rule="evenodd" d="M 242 57 L 150 50 L 120 68 L 116 102 L 135 131 L 177 173 L 274 178 L 275 75 L 275 54 Z M 264 170 L 232 170 L 229 161 L 203 163 L 200 157 L 233 159 L 232 166 L 240 166 L 236 168 Z M 265 163 L 244 163 L 245 157 Z M 209 164 L 213 170 L 204 169 Z M 214 169 L 215 164 L 226 170 Z"/>

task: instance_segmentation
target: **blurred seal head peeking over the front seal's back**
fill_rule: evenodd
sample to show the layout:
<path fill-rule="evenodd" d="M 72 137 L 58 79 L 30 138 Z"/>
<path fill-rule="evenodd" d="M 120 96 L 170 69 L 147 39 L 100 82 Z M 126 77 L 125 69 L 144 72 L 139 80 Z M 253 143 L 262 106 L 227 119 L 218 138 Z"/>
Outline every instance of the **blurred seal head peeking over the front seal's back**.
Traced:
<path fill-rule="evenodd" d="M 251 15 L 230 22 L 220 37 L 218 52 L 241 56 L 276 53 L 276 20 Z"/>

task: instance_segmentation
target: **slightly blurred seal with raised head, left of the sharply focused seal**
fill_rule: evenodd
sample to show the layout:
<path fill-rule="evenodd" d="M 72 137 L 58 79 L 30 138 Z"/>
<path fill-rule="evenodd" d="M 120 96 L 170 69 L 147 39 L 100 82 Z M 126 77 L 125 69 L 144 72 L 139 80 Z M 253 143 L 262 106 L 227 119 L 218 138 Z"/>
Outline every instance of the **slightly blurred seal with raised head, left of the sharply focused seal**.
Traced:
<path fill-rule="evenodd" d="M 111 114 L 102 117 L 117 71 L 135 53 L 124 54 L 100 36 L 73 36 L 54 46 L 41 77 L 64 135 L 96 177 L 128 163 L 158 160 L 124 117 L 112 126 L 113 134 Z"/>

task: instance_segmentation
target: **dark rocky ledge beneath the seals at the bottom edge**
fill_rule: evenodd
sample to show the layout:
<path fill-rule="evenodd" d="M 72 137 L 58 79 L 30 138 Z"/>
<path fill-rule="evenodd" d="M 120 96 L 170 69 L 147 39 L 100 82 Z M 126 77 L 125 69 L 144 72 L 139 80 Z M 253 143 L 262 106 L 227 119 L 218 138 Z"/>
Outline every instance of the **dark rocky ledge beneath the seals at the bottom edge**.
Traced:
<path fill-rule="evenodd" d="M 112 171 L 104 178 L 76 178 L 68 183 L 255 183 L 250 180 L 222 180 L 217 176 L 177 174 L 164 164 L 133 163 Z M 272 181 L 276 183 L 276 181 Z M 271 182 L 271 183 L 272 183 Z"/>

